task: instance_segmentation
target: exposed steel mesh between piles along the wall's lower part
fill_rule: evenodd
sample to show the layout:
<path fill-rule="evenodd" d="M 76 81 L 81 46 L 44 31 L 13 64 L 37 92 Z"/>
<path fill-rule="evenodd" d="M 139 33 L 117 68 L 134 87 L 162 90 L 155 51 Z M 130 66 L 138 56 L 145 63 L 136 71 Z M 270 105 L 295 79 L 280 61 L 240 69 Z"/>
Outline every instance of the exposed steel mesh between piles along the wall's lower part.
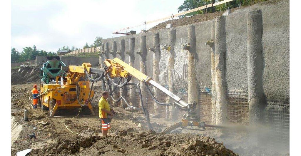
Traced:
<path fill-rule="evenodd" d="M 128 87 L 129 88 L 129 87 Z M 134 88 L 135 89 L 135 88 Z M 152 93 L 153 87 L 150 86 Z M 117 93 L 118 97 L 119 91 Z M 137 106 L 140 106 L 140 97 L 138 93 L 138 89 L 136 88 L 136 102 Z M 188 102 L 188 94 L 187 93 L 177 93 L 177 96 L 184 99 Z M 117 98 L 118 98 L 117 97 Z M 211 111 L 212 111 L 212 103 L 211 103 L 211 90 L 204 90 L 200 87 L 199 90 L 199 102 L 197 106 L 197 113 L 200 115 L 201 121 L 205 123 L 211 124 Z M 166 103 L 167 96 L 163 92 L 160 94 L 159 102 Z M 126 100 L 129 102 L 129 91 L 127 91 Z M 110 101 L 113 102 L 113 101 Z M 147 92 L 147 100 L 143 102 L 148 110 L 149 114 L 154 114 L 154 100 L 151 97 L 151 94 Z M 120 106 L 120 102 L 118 103 Z M 169 108 L 168 106 L 159 106 L 160 110 L 160 118 L 169 118 Z M 181 112 L 176 109 L 176 113 L 178 114 L 178 120 L 180 120 L 185 112 Z M 265 123 L 270 128 L 268 129 L 268 138 L 267 143 L 270 146 L 278 146 L 283 147 L 285 149 L 289 148 L 289 122 L 290 122 L 290 109 L 289 104 L 269 104 L 265 109 Z M 230 123 L 241 124 L 241 125 L 249 125 L 249 101 L 248 101 L 248 93 L 240 92 L 240 93 L 228 93 L 228 121 Z M 229 136 L 238 137 L 237 134 L 240 132 L 236 132 L 231 130 L 228 133 Z M 241 137 L 241 135 L 239 135 Z M 247 137 L 247 136 L 245 136 Z"/>

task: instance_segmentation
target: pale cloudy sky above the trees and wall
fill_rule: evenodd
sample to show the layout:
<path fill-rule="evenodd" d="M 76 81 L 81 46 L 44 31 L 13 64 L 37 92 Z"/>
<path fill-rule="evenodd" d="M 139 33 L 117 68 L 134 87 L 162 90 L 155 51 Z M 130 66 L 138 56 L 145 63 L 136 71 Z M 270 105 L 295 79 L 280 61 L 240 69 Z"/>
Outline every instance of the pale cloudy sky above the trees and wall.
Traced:
<path fill-rule="evenodd" d="M 11 47 L 19 52 L 36 45 L 56 52 L 60 47 L 82 48 L 96 36 L 112 38 L 112 32 L 145 21 L 178 13 L 184 0 L 12 0 Z M 166 21 L 166 20 L 165 20 Z M 147 24 L 150 29 L 157 24 Z M 145 25 L 130 30 L 140 33 Z M 125 32 L 125 31 L 123 31 Z M 114 37 L 122 35 L 114 34 Z"/>

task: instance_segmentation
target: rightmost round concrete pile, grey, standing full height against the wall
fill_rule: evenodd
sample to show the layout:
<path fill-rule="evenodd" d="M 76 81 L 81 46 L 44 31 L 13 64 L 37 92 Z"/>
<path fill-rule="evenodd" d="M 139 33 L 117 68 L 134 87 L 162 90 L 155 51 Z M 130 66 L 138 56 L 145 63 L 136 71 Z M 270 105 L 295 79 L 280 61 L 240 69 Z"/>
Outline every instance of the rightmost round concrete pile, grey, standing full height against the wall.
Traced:
<path fill-rule="evenodd" d="M 249 117 L 250 124 L 256 125 L 264 121 L 264 110 L 267 105 L 262 84 L 264 58 L 261 44 L 262 14 L 260 10 L 253 10 L 248 14 L 247 34 Z"/>

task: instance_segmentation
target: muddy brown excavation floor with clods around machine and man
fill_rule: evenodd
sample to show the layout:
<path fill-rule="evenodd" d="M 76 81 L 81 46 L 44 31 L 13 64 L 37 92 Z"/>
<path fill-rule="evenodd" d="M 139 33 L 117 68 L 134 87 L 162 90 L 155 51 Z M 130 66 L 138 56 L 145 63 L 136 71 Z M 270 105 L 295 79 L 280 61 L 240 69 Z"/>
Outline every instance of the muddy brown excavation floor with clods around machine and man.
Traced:
<path fill-rule="evenodd" d="M 142 111 L 128 112 L 120 107 L 113 107 L 117 114 L 111 122 L 112 128 L 109 136 L 102 137 L 97 116 L 101 93 L 99 84 L 92 101 L 97 115 L 82 115 L 81 112 L 74 119 L 72 118 L 78 114 L 79 109 L 61 110 L 56 114 L 59 116 L 53 118 L 48 117 L 49 111 L 32 109 L 29 96 L 33 84 L 11 86 L 11 115 L 22 126 L 20 135 L 12 142 L 11 155 L 28 148 L 33 149 L 29 155 L 285 155 L 246 145 L 244 137 L 241 137 L 244 134 L 241 134 L 240 139 L 225 138 L 214 128 L 206 131 L 160 133 L 166 126 L 178 121 L 151 117 L 154 131 L 148 131 Z M 24 109 L 29 110 L 27 122 L 23 121 Z M 41 124 L 41 121 L 47 124 Z M 71 133 L 64 123 L 73 133 L 81 136 Z M 38 133 L 37 140 L 25 139 L 31 131 Z"/>

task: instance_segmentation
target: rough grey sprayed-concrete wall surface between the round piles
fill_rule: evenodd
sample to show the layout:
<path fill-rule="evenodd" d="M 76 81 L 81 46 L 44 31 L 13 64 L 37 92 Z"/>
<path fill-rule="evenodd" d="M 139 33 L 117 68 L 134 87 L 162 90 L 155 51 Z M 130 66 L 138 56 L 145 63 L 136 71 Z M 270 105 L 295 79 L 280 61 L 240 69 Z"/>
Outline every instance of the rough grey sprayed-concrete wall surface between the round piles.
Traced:
<path fill-rule="evenodd" d="M 269 102 L 289 103 L 289 1 L 270 1 L 259 3 L 247 8 L 242 8 L 225 16 L 225 84 L 228 92 L 248 90 L 248 68 L 247 68 L 247 15 L 252 10 L 259 9 L 262 12 L 262 55 L 263 75 L 262 83 L 264 93 Z M 196 37 L 196 82 L 199 87 L 212 88 L 211 84 L 211 48 L 206 46 L 207 40 L 211 40 L 211 23 L 209 20 L 194 23 Z M 175 92 L 188 90 L 187 85 L 187 52 L 182 50 L 183 44 L 188 44 L 188 27 L 179 26 L 176 30 L 175 39 L 175 64 L 172 70 L 172 79 Z M 162 50 L 163 46 L 169 44 L 169 29 L 161 29 L 135 35 L 121 36 L 104 39 L 108 43 L 109 51 L 112 51 L 113 41 L 117 42 L 117 51 L 120 50 L 119 43 L 125 41 L 125 50 L 129 51 L 129 39 L 135 38 L 135 58 L 140 58 L 136 51 L 140 51 L 140 39 L 146 35 L 147 49 L 153 47 L 155 33 L 160 35 L 160 75 L 159 83 L 165 87 L 168 85 L 168 51 Z M 117 57 L 120 58 L 119 55 Z M 109 55 L 109 59 L 113 59 Z M 154 54 L 147 51 L 146 74 L 153 77 Z M 140 69 L 140 59 L 135 59 L 134 67 Z M 125 62 L 129 63 L 129 55 Z M 135 80 L 136 81 L 136 80 Z"/>

